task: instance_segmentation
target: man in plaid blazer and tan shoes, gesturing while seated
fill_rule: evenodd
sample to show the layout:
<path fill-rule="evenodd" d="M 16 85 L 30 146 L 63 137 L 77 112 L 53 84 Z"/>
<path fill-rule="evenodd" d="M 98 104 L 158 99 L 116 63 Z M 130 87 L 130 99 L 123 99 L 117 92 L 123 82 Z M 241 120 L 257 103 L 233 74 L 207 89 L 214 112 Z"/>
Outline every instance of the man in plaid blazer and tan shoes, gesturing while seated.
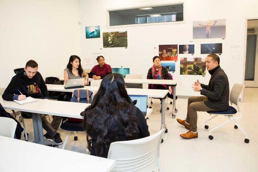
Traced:
<path fill-rule="evenodd" d="M 221 111 L 229 108 L 229 83 L 227 75 L 219 66 L 218 55 L 209 54 L 205 61 L 207 70 L 211 74 L 209 84 L 200 84 L 198 80 L 193 84 L 193 91 L 200 92 L 203 96 L 190 97 L 186 119 L 177 119 L 178 123 L 189 130 L 187 133 L 180 135 L 185 139 L 198 138 L 197 111 Z"/>

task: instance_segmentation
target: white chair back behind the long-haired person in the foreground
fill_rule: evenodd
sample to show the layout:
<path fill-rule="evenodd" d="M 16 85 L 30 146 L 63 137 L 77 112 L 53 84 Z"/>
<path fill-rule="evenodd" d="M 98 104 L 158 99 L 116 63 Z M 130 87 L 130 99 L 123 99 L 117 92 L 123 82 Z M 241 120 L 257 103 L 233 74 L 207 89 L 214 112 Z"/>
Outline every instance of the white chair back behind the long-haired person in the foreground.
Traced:
<path fill-rule="evenodd" d="M 110 145 L 107 158 L 116 160 L 112 171 L 150 172 L 162 171 L 160 142 L 165 128 L 154 135 L 136 140 L 117 141 Z"/>

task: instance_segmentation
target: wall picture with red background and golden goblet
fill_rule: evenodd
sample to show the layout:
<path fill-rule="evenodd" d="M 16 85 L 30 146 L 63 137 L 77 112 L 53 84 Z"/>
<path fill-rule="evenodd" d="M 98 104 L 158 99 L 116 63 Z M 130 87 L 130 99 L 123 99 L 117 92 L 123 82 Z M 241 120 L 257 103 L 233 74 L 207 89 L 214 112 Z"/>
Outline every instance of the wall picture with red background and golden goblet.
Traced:
<path fill-rule="evenodd" d="M 178 45 L 159 45 L 159 57 L 163 61 L 178 60 Z"/>

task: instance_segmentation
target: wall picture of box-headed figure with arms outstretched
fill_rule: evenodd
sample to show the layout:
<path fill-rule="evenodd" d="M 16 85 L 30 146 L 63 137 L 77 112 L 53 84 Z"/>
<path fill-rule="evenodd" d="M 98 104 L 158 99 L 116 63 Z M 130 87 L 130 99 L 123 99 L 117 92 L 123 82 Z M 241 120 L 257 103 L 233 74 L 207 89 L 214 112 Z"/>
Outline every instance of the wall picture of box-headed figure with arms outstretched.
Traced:
<path fill-rule="evenodd" d="M 193 22 L 193 39 L 225 37 L 226 19 Z"/>

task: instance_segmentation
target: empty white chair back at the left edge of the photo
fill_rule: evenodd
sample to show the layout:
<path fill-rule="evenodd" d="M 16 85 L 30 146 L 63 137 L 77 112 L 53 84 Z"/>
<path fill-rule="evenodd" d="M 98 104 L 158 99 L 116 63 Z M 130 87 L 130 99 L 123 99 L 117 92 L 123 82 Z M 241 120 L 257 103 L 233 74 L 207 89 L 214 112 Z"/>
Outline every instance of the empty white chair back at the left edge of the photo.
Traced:
<path fill-rule="evenodd" d="M 0 117 L 0 135 L 14 138 L 17 122 L 14 119 Z"/>

